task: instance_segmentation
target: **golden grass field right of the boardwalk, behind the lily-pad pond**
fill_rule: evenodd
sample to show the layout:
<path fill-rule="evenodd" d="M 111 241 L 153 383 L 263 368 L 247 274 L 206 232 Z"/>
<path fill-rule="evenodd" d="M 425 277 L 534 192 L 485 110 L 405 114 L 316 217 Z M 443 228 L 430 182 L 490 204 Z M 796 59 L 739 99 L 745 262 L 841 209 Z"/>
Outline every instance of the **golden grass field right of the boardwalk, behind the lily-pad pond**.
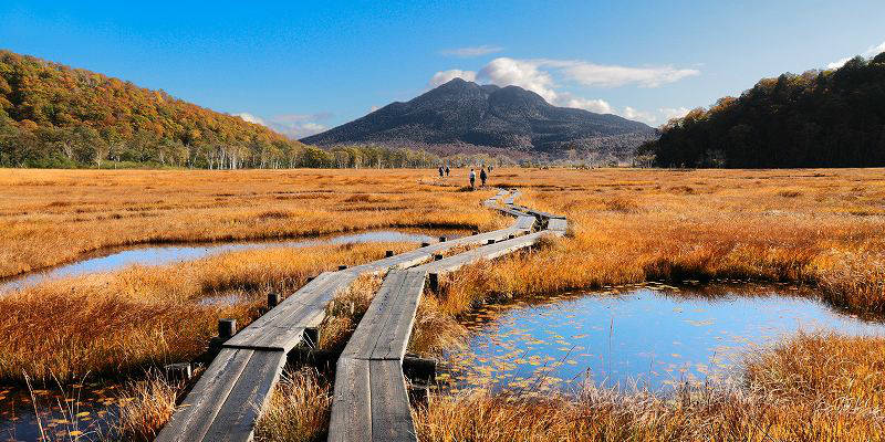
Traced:
<path fill-rule="evenodd" d="M 524 206 L 566 214 L 571 236 L 460 276 L 472 294 L 451 302 L 750 278 L 816 285 L 834 305 L 885 314 L 877 170 L 527 170 L 504 185 L 523 189 Z"/>

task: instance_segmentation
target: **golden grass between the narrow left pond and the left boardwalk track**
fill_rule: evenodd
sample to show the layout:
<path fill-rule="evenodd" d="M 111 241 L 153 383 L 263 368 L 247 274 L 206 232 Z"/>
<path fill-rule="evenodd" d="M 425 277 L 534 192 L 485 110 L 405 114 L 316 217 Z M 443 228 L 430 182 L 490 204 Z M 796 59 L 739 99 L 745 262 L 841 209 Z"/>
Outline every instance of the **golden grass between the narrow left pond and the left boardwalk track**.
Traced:
<path fill-rule="evenodd" d="M 250 250 L 168 266 L 51 281 L 0 297 L 0 378 L 22 373 L 73 379 L 86 372 L 190 360 L 219 317 L 240 327 L 258 315 L 269 291 L 289 294 L 306 278 L 404 251 L 408 244 L 323 245 Z M 212 305 L 207 299 L 233 303 Z"/>

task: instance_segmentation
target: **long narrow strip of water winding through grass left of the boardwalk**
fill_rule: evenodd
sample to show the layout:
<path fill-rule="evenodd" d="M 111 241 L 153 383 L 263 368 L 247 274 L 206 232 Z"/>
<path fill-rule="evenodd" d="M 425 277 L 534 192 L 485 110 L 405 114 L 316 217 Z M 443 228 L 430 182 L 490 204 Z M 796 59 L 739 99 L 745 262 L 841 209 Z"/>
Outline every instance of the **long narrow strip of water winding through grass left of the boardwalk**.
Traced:
<path fill-rule="evenodd" d="M 450 233 L 441 233 L 457 238 Z M 34 272 L 0 280 L 0 294 L 39 284 L 42 281 L 86 273 L 112 272 L 128 265 L 163 265 L 192 261 L 226 252 L 271 248 L 306 248 L 322 244 L 355 244 L 367 242 L 436 242 L 439 236 L 408 231 L 371 231 L 326 238 L 291 241 L 243 241 L 232 243 L 199 243 L 176 245 L 137 245 L 117 248 L 96 253 L 71 264 L 60 265 L 43 272 Z"/>

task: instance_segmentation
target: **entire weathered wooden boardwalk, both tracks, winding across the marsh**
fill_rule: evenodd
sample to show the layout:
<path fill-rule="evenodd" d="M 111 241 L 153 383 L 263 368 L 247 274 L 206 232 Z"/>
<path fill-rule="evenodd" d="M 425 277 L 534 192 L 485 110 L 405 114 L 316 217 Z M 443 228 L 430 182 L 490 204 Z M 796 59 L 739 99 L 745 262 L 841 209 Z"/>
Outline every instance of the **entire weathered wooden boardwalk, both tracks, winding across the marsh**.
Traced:
<path fill-rule="evenodd" d="M 315 277 L 223 344 L 157 440 L 250 441 L 288 352 L 309 340 L 306 330 L 320 325 L 326 305 L 360 275 L 389 271 L 339 360 L 330 441 L 415 441 L 402 365 L 426 275 L 533 244 L 541 235 L 531 233 L 539 214 L 516 207 L 513 198 L 502 190 L 483 202 L 517 217 L 510 228 L 438 242 Z M 561 231 L 548 223 L 549 231 L 564 233 L 564 221 Z M 481 246 L 427 263 L 460 245 Z"/>

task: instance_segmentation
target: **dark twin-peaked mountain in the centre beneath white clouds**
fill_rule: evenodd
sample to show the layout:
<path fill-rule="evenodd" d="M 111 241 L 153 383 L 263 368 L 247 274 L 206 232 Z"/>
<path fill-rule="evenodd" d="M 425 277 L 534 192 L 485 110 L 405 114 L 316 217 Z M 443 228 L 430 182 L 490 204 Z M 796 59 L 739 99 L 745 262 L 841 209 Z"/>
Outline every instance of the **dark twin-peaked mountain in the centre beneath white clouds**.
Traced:
<path fill-rule="evenodd" d="M 395 102 L 302 141 L 315 145 L 466 144 L 562 157 L 570 149 L 626 157 L 655 137 L 647 125 L 616 115 L 555 107 L 518 86 L 455 78 L 409 102 Z"/>

